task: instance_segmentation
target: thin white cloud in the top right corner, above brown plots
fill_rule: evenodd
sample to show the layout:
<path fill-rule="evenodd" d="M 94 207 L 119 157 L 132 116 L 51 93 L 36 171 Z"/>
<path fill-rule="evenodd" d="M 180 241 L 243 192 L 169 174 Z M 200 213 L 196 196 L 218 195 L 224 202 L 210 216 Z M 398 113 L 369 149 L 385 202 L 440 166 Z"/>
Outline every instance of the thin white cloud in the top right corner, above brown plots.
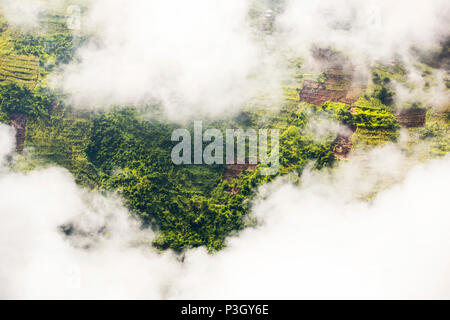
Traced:
<path fill-rule="evenodd" d="M 329 46 L 365 64 L 433 48 L 449 36 L 449 12 L 445 0 L 289 0 L 277 25 L 294 50 Z"/>

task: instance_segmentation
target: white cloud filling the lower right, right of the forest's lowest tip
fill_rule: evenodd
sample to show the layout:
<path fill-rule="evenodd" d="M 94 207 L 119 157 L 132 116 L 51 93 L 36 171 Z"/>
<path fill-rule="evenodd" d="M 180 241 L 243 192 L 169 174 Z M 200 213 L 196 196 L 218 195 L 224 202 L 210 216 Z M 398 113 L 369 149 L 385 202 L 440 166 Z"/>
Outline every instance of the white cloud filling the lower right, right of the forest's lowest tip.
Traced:
<path fill-rule="evenodd" d="M 346 168 L 304 175 L 300 189 L 277 185 L 254 209 L 263 225 L 217 255 L 187 256 L 176 297 L 449 298 L 449 165 L 447 157 L 415 168 L 372 204 L 352 195 L 364 176 Z"/>

